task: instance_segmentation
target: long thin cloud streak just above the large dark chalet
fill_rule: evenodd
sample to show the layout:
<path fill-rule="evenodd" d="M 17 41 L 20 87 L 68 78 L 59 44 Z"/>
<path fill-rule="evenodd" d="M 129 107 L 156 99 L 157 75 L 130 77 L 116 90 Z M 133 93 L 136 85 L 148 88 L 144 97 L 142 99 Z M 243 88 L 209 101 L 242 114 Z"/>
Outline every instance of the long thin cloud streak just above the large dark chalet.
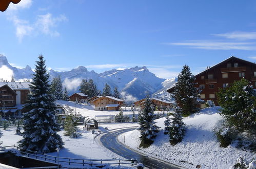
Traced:
<path fill-rule="evenodd" d="M 241 42 L 221 42 L 221 41 L 204 41 L 204 40 L 189 40 L 183 43 L 164 43 L 164 45 L 188 46 L 195 49 L 210 49 L 210 50 L 256 50 L 255 43 Z"/>

